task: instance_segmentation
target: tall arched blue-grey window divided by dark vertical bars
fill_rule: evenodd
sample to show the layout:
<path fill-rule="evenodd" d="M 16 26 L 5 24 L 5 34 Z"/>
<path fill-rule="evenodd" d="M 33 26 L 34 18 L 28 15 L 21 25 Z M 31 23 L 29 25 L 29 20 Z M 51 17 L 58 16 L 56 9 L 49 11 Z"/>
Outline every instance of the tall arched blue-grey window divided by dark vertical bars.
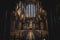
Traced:
<path fill-rule="evenodd" d="M 24 12 L 26 17 L 35 17 L 37 8 L 34 4 L 28 4 L 26 5 Z"/>

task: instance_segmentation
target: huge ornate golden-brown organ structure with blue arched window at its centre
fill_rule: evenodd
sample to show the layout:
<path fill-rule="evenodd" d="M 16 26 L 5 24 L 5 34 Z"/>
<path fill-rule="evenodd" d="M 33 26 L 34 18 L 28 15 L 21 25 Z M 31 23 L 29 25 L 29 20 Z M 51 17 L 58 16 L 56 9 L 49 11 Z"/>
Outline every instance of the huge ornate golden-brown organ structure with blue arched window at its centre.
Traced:
<path fill-rule="evenodd" d="M 11 16 L 10 40 L 48 40 L 47 11 L 39 0 L 20 1 Z"/>

